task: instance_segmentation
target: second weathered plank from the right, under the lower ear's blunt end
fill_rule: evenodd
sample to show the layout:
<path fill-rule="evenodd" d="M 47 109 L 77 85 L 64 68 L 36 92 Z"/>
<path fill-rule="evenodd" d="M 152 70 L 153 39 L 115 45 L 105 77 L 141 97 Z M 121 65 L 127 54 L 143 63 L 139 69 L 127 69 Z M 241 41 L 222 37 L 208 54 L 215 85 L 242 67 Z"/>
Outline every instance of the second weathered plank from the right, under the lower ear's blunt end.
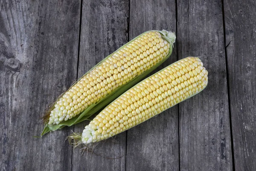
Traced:
<path fill-rule="evenodd" d="M 180 170 L 232 170 L 221 0 L 177 1 L 179 59 L 201 56 L 206 89 L 179 105 Z"/>

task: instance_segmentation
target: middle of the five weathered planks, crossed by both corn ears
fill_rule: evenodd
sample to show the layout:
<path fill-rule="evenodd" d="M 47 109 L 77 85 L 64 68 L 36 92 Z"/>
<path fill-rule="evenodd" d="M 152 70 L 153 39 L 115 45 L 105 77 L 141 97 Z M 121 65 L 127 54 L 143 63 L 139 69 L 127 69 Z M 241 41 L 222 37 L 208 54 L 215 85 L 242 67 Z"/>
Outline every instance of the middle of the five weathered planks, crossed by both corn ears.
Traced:
<path fill-rule="evenodd" d="M 163 29 L 176 32 L 175 0 L 130 1 L 130 39 L 144 31 Z M 175 46 L 159 69 L 176 60 Z M 127 131 L 127 171 L 179 169 L 177 112 L 177 106 L 173 107 Z"/>

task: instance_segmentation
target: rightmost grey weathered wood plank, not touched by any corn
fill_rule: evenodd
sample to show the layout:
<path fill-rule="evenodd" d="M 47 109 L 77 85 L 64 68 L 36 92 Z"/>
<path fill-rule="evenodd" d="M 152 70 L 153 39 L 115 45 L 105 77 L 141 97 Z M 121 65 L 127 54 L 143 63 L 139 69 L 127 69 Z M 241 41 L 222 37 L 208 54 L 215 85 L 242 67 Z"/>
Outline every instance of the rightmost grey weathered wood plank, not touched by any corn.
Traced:
<path fill-rule="evenodd" d="M 233 148 L 237 171 L 256 170 L 256 2 L 224 0 Z"/>

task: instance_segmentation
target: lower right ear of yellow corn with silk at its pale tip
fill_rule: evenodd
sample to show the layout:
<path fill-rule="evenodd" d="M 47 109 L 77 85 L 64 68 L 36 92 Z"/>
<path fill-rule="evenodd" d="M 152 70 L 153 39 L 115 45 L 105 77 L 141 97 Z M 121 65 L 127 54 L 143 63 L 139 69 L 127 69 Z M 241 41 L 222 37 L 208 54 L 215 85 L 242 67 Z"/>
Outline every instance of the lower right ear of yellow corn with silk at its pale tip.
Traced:
<path fill-rule="evenodd" d="M 187 57 L 160 70 L 126 91 L 97 115 L 74 145 L 105 140 L 201 92 L 208 72 L 197 57 Z"/>

